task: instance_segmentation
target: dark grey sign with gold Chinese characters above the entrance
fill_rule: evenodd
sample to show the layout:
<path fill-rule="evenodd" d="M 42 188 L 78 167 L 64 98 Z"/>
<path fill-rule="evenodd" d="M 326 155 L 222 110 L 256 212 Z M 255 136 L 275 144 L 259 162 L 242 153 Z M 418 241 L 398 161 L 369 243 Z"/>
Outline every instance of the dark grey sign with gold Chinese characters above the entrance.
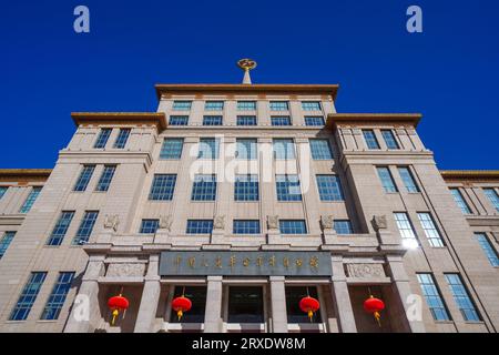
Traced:
<path fill-rule="evenodd" d="M 328 252 L 162 252 L 162 276 L 332 276 Z"/>

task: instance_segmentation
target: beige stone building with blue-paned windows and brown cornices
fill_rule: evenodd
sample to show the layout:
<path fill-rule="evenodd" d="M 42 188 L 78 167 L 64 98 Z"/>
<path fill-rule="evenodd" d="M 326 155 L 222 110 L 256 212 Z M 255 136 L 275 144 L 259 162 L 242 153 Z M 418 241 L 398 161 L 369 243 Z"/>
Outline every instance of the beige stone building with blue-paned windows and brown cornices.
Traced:
<path fill-rule="evenodd" d="M 154 113 L 72 113 L 53 170 L 0 170 L 0 331 L 497 332 L 499 172 L 439 171 L 419 114 L 155 89 Z"/>

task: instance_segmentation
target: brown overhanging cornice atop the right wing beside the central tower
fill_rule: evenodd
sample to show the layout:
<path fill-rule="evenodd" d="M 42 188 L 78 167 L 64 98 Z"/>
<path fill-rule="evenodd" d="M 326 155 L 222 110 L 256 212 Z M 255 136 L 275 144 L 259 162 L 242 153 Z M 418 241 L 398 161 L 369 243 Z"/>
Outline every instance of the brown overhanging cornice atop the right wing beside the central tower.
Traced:
<path fill-rule="evenodd" d="M 421 119 L 420 113 L 329 113 L 326 126 L 336 130 L 342 125 L 364 125 L 364 124 L 399 124 L 416 128 Z"/>

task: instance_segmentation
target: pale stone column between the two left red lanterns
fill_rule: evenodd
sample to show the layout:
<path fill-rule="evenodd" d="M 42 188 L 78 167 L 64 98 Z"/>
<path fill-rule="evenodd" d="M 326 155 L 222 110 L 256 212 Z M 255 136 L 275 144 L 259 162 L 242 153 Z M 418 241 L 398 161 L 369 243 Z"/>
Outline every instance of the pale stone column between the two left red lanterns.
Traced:
<path fill-rule="evenodd" d="M 136 315 L 135 333 L 150 333 L 156 317 L 157 303 L 160 301 L 161 284 L 159 275 L 160 255 L 149 257 L 147 274 L 144 278 L 141 305 Z"/>

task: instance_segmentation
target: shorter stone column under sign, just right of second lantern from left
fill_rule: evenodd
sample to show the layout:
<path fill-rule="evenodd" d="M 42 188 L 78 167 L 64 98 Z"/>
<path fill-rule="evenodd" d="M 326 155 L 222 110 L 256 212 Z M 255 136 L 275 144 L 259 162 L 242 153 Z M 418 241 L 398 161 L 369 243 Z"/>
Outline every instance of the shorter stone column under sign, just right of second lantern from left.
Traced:
<path fill-rule="evenodd" d="M 222 332 L 222 276 L 207 276 L 204 332 Z"/>

